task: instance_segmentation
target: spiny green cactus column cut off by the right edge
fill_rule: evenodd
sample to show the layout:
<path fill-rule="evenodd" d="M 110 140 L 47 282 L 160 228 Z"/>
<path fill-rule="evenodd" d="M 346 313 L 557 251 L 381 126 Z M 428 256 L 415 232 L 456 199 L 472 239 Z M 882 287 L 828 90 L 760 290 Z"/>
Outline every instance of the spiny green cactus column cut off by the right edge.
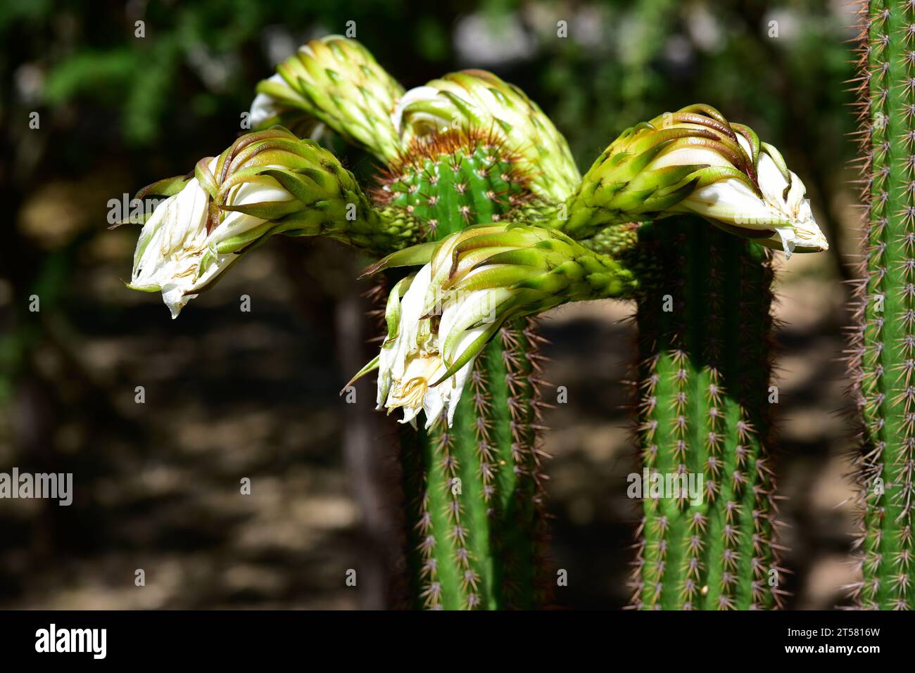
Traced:
<path fill-rule="evenodd" d="M 913 25 L 909 2 L 863 6 L 859 95 L 867 214 L 850 358 L 861 419 L 856 476 L 862 579 L 851 588 L 856 604 L 871 609 L 915 607 Z"/>

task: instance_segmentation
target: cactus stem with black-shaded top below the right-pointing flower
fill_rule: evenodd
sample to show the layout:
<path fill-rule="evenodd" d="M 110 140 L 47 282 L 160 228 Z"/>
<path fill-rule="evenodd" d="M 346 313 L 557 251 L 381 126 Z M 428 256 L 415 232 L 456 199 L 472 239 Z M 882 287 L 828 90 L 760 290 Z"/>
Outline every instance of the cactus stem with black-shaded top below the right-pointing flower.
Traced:
<path fill-rule="evenodd" d="M 770 255 L 704 221 L 642 225 L 660 272 L 638 306 L 643 497 L 632 604 L 767 609 L 772 540 Z M 646 482 L 647 477 L 647 482 Z"/>

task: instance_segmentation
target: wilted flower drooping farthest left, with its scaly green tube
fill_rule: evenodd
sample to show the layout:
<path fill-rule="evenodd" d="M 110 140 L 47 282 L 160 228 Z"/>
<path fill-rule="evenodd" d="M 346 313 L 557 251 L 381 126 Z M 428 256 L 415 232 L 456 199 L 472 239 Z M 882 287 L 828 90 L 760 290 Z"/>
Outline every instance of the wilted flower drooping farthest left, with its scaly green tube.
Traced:
<path fill-rule="evenodd" d="M 167 197 L 147 217 L 128 287 L 161 292 L 177 317 L 243 253 L 268 237 L 324 235 L 379 253 L 414 240 L 412 219 L 371 207 L 327 150 L 283 128 L 247 134 L 193 176 L 162 180 L 137 198 Z"/>

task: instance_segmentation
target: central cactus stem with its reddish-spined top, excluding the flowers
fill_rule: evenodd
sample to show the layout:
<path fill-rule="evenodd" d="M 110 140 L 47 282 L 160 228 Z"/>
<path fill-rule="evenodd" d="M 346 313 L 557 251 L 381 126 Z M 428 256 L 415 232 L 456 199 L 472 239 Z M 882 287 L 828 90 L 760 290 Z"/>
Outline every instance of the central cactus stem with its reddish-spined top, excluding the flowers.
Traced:
<path fill-rule="evenodd" d="M 380 203 L 408 210 L 440 240 L 511 217 L 531 198 L 498 139 L 451 133 L 382 177 Z M 407 604 L 530 608 L 545 599 L 541 369 L 533 325 L 503 326 L 474 366 L 450 428 L 405 429 Z"/>

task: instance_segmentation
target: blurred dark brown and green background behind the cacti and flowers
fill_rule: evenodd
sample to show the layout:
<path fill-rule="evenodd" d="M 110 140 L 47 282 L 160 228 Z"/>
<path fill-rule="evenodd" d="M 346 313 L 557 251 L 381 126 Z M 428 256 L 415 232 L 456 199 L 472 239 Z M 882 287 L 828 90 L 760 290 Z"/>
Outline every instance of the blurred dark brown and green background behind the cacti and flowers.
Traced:
<path fill-rule="evenodd" d="M 780 148 L 832 244 L 782 258 L 778 280 L 788 606 L 843 604 L 852 11 L 845 0 L 5 0 L 0 472 L 72 472 L 75 493 L 70 507 L 0 500 L 0 608 L 387 604 L 397 495 L 378 438 L 390 428 L 367 383 L 355 405 L 338 396 L 371 351 L 368 286 L 353 280 L 362 261 L 277 237 L 172 321 L 158 294 L 124 288 L 138 228 L 107 229 L 109 199 L 221 152 L 256 82 L 349 21 L 407 88 L 462 68 L 518 84 L 583 170 L 632 123 L 697 101 Z M 337 149 L 371 179 L 366 155 Z M 547 420 L 566 608 L 628 600 L 625 475 L 638 459 L 619 409 L 632 326 L 619 320 L 633 308 L 581 304 L 543 321 L 546 379 L 569 398 Z"/>

